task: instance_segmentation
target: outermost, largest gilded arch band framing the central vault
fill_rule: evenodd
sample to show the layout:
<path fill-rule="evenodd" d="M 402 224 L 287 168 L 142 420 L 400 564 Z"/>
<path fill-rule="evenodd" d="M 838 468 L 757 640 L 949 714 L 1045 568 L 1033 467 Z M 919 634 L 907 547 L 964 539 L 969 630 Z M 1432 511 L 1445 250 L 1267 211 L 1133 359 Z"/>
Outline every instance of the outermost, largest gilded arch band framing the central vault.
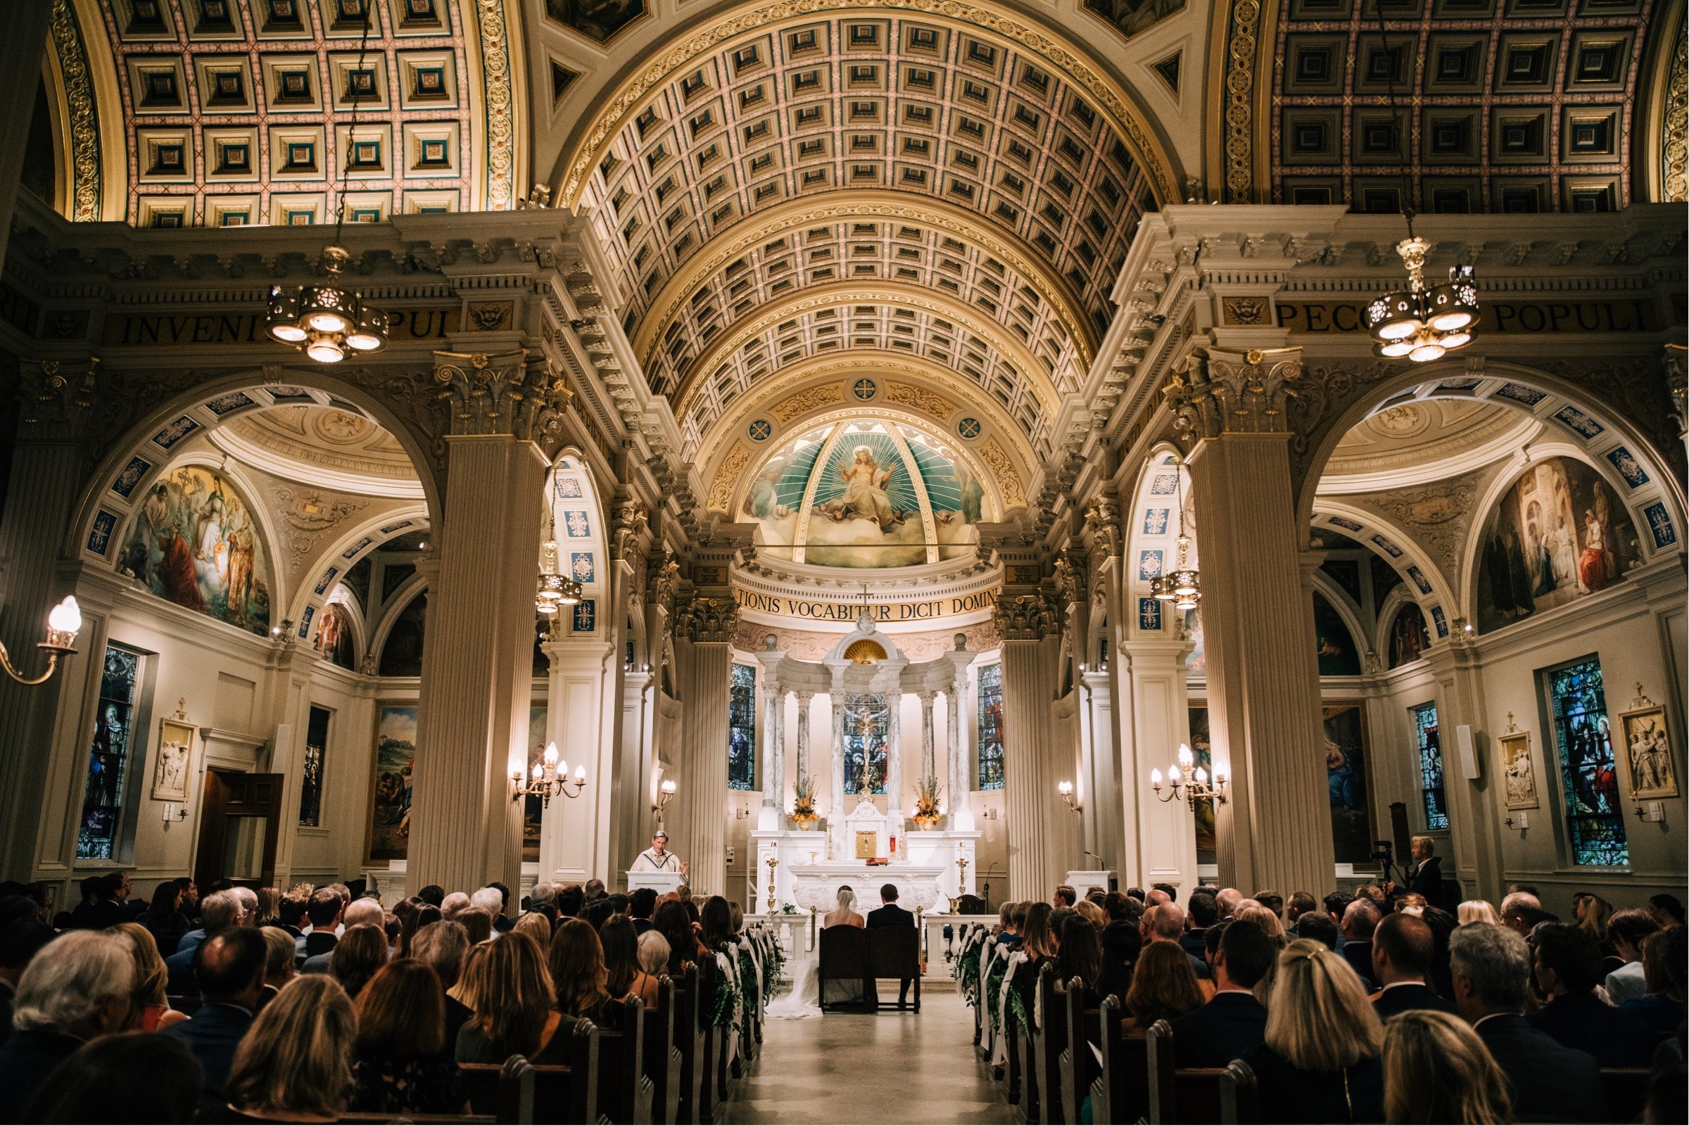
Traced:
<path fill-rule="evenodd" d="M 1257 0 L 1240 0 L 1240 7 L 1241 3 L 1257 3 Z M 888 8 L 969 24 L 976 32 L 998 35 L 1005 42 L 1020 44 L 1039 54 L 1049 66 L 1061 71 L 1076 86 L 1084 88 L 1101 105 L 1110 118 L 1110 125 L 1123 133 L 1127 142 L 1135 149 L 1133 155 L 1155 187 L 1155 199 L 1165 204 L 1181 198 L 1167 155 L 1154 140 L 1149 128 L 1138 120 L 1138 111 L 1127 100 L 1125 93 L 1100 71 L 1093 69 L 1078 49 L 1042 30 L 1027 27 L 1005 12 L 964 3 L 963 0 L 780 0 L 779 3 L 713 20 L 684 41 L 660 51 L 655 59 L 630 76 L 598 111 L 591 128 L 576 149 L 574 159 L 562 177 L 562 189 L 557 192 L 559 201 L 569 208 L 579 206 L 588 179 L 625 120 L 655 86 L 672 81 L 677 73 L 696 66 L 699 56 L 723 49 L 740 35 L 767 34 L 784 20 L 814 19 L 824 12 L 866 10 L 880 14 Z M 1253 57 L 1253 49 L 1250 56 Z"/>

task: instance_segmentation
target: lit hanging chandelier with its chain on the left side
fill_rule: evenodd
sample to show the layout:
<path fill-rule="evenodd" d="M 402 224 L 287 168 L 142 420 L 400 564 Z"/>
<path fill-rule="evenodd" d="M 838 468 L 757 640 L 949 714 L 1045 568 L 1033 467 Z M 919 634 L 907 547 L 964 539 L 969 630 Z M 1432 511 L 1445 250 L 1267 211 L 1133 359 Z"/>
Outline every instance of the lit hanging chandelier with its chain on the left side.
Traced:
<path fill-rule="evenodd" d="M 373 8 L 365 8 L 355 73 L 363 69 L 373 19 Z M 272 285 L 265 321 L 270 339 L 289 344 L 318 363 L 339 363 L 348 353 L 380 351 L 387 346 L 387 314 L 367 307 L 363 294 L 348 289 L 339 280 L 339 272 L 351 262 L 351 255 L 339 245 L 339 233 L 346 223 L 346 182 L 351 176 L 353 147 L 358 143 L 358 101 L 363 96 L 361 83 L 355 81 L 351 86 L 351 127 L 346 130 L 346 159 L 339 165 L 334 241 L 323 250 L 323 270 L 328 279 L 314 285 L 289 289 Z"/>

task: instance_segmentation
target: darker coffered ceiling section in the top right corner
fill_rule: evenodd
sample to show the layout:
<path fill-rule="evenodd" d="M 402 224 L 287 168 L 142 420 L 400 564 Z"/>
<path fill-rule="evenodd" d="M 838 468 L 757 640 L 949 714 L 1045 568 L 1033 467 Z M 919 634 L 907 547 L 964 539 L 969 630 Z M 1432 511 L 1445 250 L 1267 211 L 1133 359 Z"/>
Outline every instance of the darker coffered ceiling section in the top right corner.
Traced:
<path fill-rule="evenodd" d="M 1647 199 L 1638 164 L 1659 157 L 1638 150 L 1643 95 L 1672 30 L 1660 10 L 1660 0 L 1388 0 L 1380 24 L 1377 0 L 1285 0 L 1272 194 L 1356 211 L 1397 211 L 1405 194 L 1427 213 L 1616 211 Z"/>

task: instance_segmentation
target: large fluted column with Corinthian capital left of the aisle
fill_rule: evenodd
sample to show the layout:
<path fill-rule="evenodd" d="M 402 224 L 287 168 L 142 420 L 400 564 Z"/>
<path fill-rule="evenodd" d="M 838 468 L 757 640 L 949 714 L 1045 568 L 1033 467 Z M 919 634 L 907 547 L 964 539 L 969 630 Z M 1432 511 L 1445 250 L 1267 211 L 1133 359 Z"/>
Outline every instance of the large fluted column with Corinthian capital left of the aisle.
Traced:
<path fill-rule="evenodd" d="M 527 766 L 544 434 L 569 398 L 522 349 L 434 353 L 451 400 L 446 506 L 429 539 L 407 883 L 471 890 L 522 874 L 522 807 L 510 775 Z M 608 785 L 595 778 L 595 785 Z"/>

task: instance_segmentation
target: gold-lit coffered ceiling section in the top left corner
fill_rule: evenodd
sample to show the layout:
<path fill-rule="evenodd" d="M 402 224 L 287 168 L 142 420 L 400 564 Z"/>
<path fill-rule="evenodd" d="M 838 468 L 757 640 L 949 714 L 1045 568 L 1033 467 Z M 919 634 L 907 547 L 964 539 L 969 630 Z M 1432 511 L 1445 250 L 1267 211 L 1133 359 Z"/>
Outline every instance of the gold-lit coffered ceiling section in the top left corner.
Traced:
<path fill-rule="evenodd" d="M 123 132 L 125 164 L 103 171 L 123 177 L 106 204 L 122 213 L 78 218 L 326 223 L 348 157 L 348 221 L 512 206 L 515 89 L 498 5 L 59 0 L 54 30 L 68 118 L 90 86 L 115 88 L 117 106 L 84 116 Z M 76 81 L 83 46 L 91 84 Z M 73 130 L 71 149 L 96 143 L 90 132 Z M 79 174 L 83 162 L 68 164 Z"/>

